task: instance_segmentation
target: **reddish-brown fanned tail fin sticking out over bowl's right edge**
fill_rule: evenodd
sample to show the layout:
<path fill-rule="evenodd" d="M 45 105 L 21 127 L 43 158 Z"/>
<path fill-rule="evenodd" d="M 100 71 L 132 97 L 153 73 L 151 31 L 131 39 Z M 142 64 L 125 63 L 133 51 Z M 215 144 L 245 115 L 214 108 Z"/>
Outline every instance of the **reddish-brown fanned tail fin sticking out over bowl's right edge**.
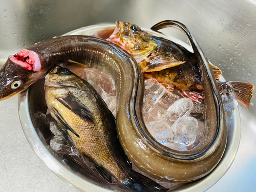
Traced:
<path fill-rule="evenodd" d="M 228 83 L 233 87 L 234 97 L 237 99 L 237 101 L 249 109 L 254 90 L 252 84 L 239 81 L 228 81 Z"/>

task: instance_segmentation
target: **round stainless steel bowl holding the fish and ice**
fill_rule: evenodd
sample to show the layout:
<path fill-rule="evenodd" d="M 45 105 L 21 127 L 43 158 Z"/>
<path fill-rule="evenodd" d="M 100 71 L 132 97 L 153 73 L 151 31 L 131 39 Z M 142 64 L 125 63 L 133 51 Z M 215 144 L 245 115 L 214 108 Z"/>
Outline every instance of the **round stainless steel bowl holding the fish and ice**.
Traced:
<path fill-rule="evenodd" d="M 94 35 L 102 29 L 113 28 L 114 26 L 114 24 L 89 26 L 71 31 L 65 35 Z M 146 28 L 143 28 L 143 30 L 154 35 L 160 35 Z M 165 38 L 169 38 L 191 51 L 191 48 L 184 42 L 170 36 L 165 36 Z M 38 115 L 46 114 L 47 111 L 44 97 L 44 79 L 37 81 L 28 90 L 25 90 L 19 95 L 18 106 L 20 122 L 22 123 L 27 140 L 41 161 L 44 162 L 56 176 L 81 191 L 125 190 L 95 182 L 79 165 L 73 163 L 67 156 L 59 155 L 51 149 L 49 142 L 52 134 L 49 127 L 47 127 L 44 122 L 44 119 Z M 184 184 L 173 191 L 207 190 L 227 172 L 237 154 L 240 142 L 241 124 L 238 108 L 227 116 L 227 124 L 227 147 L 218 166 L 206 177 L 195 182 Z"/>

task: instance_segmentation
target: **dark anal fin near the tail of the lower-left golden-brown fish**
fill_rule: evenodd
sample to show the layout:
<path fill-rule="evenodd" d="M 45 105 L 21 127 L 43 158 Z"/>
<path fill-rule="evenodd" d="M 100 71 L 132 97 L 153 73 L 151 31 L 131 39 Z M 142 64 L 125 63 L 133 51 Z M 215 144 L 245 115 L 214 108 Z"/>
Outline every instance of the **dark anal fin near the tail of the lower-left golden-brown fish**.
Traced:
<path fill-rule="evenodd" d="M 89 165 L 90 167 L 92 167 L 101 177 L 103 177 L 104 179 L 106 179 L 107 181 L 109 181 L 110 183 L 112 183 L 112 175 L 108 172 L 108 170 L 106 170 L 105 168 L 97 165 L 92 158 L 90 158 L 89 156 L 87 156 L 86 154 L 81 154 L 82 159 L 84 161 L 84 163 L 86 163 L 87 165 Z"/>

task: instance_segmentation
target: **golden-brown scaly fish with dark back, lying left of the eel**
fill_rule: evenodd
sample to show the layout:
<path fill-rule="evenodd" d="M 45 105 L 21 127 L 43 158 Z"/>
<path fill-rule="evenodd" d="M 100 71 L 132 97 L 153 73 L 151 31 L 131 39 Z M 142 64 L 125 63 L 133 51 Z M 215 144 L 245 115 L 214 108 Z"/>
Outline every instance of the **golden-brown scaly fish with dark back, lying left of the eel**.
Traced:
<path fill-rule="evenodd" d="M 91 84 L 68 69 L 55 67 L 46 76 L 45 97 L 56 125 L 72 137 L 79 154 L 102 177 L 111 181 L 113 176 L 133 191 L 167 190 L 127 163 L 115 118 Z"/>

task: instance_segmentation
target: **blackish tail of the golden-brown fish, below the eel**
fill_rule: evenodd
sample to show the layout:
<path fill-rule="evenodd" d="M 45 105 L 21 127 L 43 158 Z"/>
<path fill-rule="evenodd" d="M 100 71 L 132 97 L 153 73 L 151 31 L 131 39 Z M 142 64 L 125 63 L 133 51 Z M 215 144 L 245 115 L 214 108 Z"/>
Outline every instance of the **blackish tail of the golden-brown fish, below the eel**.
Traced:
<path fill-rule="evenodd" d="M 157 182 L 151 180 L 150 178 L 135 172 L 135 170 L 131 170 L 131 173 L 129 174 L 130 178 L 129 180 L 126 180 L 124 183 L 125 186 L 132 191 L 136 192 L 165 192 L 168 189 L 159 185 Z"/>

